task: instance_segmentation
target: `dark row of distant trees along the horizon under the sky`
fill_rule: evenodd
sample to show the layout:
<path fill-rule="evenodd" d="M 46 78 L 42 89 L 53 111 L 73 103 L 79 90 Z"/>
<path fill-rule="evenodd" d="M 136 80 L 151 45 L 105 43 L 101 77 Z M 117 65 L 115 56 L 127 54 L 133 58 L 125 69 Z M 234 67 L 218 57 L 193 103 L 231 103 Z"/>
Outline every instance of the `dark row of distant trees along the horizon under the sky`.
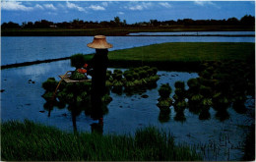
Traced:
<path fill-rule="evenodd" d="M 128 25 L 126 20 L 121 21 L 119 17 L 114 17 L 113 20 L 107 22 L 87 22 L 83 20 L 73 20 L 71 22 L 53 23 L 46 20 L 32 22 L 24 22 L 22 25 L 9 22 L 1 25 L 5 28 L 99 28 L 99 27 L 170 27 L 170 26 L 255 26 L 255 17 L 245 15 L 240 20 L 237 18 L 229 18 L 227 20 L 192 20 L 178 19 L 177 21 L 158 21 L 150 20 L 150 22 L 140 22 Z"/>

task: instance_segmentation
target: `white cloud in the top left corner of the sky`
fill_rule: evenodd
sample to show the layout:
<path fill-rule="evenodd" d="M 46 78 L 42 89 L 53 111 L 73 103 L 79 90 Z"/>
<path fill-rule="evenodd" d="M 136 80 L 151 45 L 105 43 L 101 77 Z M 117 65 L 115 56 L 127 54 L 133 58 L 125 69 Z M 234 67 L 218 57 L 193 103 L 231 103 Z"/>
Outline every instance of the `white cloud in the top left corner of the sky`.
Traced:
<path fill-rule="evenodd" d="M 10 10 L 10 11 L 32 11 L 32 7 L 27 7 L 22 4 L 22 2 L 16 1 L 3 1 L 2 2 L 2 10 Z"/>

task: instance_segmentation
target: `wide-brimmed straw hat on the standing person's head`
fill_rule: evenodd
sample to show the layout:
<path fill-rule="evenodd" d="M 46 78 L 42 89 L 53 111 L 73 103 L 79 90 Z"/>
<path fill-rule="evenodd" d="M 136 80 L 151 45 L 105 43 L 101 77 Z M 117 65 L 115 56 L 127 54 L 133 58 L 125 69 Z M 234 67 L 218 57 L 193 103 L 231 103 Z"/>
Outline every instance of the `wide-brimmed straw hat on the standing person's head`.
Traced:
<path fill-rule="evenodd" d="M 96 49 L 106 49 L 113 47 L 112 44 L 106 42 L 104 35 L 96 35 L 94 41 L 92 43 L 87 44 L 87 46 Z"/>

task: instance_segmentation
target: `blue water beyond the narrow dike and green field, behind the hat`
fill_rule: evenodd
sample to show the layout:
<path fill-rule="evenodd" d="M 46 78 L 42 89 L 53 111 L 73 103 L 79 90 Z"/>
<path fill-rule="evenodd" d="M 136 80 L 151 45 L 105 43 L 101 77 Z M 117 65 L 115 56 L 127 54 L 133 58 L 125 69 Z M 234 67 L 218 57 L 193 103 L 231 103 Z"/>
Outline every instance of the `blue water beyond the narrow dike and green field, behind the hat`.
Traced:
<path fill-rule="evenodd" d="M 1 65 L 94 53 L 87 47 L 93 36 L 1 37 Z M 163 42 L 255 42 L 254 37 L 224 36 L 107 36 L 109 50 L 125 49 Z"/>

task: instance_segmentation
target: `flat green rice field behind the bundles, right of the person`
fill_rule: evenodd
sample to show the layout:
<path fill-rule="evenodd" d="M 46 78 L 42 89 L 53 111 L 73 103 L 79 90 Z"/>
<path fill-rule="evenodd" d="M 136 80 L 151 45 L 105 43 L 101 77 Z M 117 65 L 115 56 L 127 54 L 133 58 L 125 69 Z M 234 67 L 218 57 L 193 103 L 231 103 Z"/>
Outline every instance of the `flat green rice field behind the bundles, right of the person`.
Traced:
<path fill-rule="evenodd" d="M 110 51 L 109 67 L 154 66 L 162 70 L 196 71 L 202 62 L 244 61 L 254 43 L 177 42 Z M 87 60 L 93 55 L 86 55 Z"/>

